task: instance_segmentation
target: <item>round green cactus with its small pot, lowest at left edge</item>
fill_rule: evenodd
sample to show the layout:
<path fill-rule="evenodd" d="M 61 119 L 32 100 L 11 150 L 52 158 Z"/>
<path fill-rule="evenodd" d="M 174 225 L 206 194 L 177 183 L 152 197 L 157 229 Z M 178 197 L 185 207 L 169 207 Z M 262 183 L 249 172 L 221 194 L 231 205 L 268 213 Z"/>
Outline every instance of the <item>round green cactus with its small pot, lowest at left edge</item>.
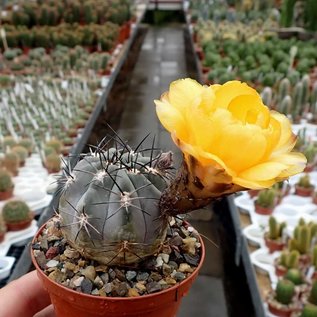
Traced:
<path fill-rule="evenodd" d="M 34 215 L 24 201 L 10 200 L 3 206 L 2 216 L 8 230 L 16 231 L 29 227 Z"/>

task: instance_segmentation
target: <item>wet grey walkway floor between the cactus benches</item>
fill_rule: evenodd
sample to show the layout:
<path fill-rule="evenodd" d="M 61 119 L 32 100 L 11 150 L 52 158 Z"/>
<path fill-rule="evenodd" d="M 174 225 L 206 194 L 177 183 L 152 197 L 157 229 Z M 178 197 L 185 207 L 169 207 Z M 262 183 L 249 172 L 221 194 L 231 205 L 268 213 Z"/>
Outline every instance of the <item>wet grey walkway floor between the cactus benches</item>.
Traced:
<path fill-rule="evenodd" d="M 131 74 L 119 127 L 119 135 L 130 145 L 138 144 L 150 133 L 147 145 L 152 144 L 155 136 L 156 145 L 165 151 L 173 150 L 177 153 L 169 133 L 156 117 L 153 100 L 168 89 L 171 81 L 187 76 L 183 35 L 184 27 L 178 24 L 148 28 Z M 179 154 L 176 155 L 176 164 L 179 158 Z M 190 221 L 199 232 L 217 241 L 217 223 L 213 221 L 210 210 L 198 212 L 192 218 Z M 179 317 L 228 315 L 221 278 L 221 252 L 208 241 L 205 241 L 205 245 L 204 266 L 190 293 L 183 300 Z"/>

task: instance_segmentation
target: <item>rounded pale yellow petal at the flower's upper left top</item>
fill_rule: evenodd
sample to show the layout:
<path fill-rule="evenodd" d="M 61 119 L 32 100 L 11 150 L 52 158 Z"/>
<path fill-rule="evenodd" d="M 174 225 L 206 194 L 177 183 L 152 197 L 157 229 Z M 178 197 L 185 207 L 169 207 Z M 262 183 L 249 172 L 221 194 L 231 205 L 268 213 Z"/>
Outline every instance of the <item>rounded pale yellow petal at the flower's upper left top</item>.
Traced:
<path fill-rule="evenodd" d="M 171 83 L 168 99 L 173 107 L 184 109 L 200 97 L 203 87 L 195 80 L 186 78 Z"/>

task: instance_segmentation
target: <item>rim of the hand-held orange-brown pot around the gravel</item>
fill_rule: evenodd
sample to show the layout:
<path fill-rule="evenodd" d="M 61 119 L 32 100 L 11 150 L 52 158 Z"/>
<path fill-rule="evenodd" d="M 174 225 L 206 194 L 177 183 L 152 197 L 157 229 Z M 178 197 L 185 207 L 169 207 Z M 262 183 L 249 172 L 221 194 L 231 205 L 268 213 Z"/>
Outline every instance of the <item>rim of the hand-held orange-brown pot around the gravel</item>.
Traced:
<path fill-rule="evenodd" d="M 99 301 L 104 301 L 104 300 L 109 300 L 109 301 L 113 301 L 113 302 L 119 302 L 119 301 L 141 301 L 141 300 L 144 300 L 144 299 L 150 299 L 150 298 L 153 298 L 153 297 L 156 297 L 158 295 L 161 295 L 161 294 L 167 294 L 169 292 L 173 292 L 175 290 L 177 290 L 178 288 L 182 287 L 184 284 L 186 284 L 188 282 L 189 279 L 192 279 L 194 278 L 195 276 L 198 275 L 203 263 L 204 263 L 204 259 L 205 259 L 205 245 L 204 245 L 204 242 L 202 240 L 202 237 L 199 235 L 199 243 L 201 244 L 201 256 L 200 256 L 200 261 L 199 261 L 199 264 L 198 266 L 195 268 L 195 270 L 190 273 L 190 275 L 188 277 L 186 277 L 183 281 L 175 284 L 174 286 L 170 287 L 170 288 L 167 288 L 165 290 L 161 290 L 159 292 L 155 292 L 153 294 L 147 294 L 147 295 L 141 295 L 141 296 L 138 296 L 138 297 L 108 297 L 108 296 L 95 296 L 95 295 L 90 295 L 90 294 L 86 294 L 86 293 L 80 293 L 80 292 L 77 292 L 77 291 L 74 291 L 70 288 L 67 288 L 65 287 L 64 285 L 61 285 L 51 279 L 48 278 L 48 276 L 43 272 L 43 270 L 39 267 L 35 257 L 34 257 L 34 253 L 33 253 L 33 250 L 32 250 L 32 244 L 35 242 L 35 239 L 39 236 L 39 234 L 43 231 L 43 229 L 45 228 L 46 224 L 51 220 L 52 218 L 50 218 L 47 222 L 45 222 L 40 228 L 39 230 L 37 231 L 37 233 L 35 234 L 35 236 L 33 237 L 32 241 L 31 241 L 31 244 L 30 244 L 30 253 L 31 253 L 31 259 L 32 259 L 32 263 L 33 265 L 35 266 L 35 269 L 37 271 L 38 274 L 41 274 L 42 277 L 44 277 L 45 279 L 49 280 L 50 283 L 54 284 L 55 286 L 58 286 L 60 288 L 62 288 L 63 290 L 65 290 L 66 292 L 70 292 L 70 294 L 73 294 L 73 295 L 80 295 L 80 296 L 84 296 L 84 297 L 87 297 L 87 298 L 91 298 L 93 300 L 99 300 Z"/>

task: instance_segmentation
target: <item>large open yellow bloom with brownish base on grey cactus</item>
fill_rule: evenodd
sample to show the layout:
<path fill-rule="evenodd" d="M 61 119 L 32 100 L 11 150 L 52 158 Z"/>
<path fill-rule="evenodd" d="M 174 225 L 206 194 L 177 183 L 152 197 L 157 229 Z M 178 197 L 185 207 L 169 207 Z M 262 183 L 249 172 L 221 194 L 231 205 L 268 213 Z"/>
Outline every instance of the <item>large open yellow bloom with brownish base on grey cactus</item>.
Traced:
<path fill-rule="evenodd" d="M 210 197 L 267 188 L 305 167 L 304 155 L 291 152 L 296 137 L 289 120 L 245 83 L 202 86 L 181 79 L 155 103 L 192 181 L 214 192 Z"/>

